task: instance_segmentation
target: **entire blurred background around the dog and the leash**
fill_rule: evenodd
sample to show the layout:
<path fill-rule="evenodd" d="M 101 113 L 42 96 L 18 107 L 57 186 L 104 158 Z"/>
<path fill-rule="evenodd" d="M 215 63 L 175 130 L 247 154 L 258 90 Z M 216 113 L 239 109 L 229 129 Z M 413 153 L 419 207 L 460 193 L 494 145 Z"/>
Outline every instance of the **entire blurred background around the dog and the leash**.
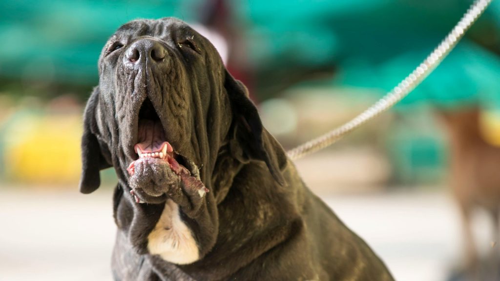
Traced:
<path fill-rule="evenodd" d="M 176 16 L 207 36 L 285 149 L 404 78 L 470 0 L 0 2 L 0 280 L 110 280 L 113 169 L 78 193 L 107 38 Z M 500 2 L 400 104 L 297 160 L 397 280 L 500 280 Z"/>

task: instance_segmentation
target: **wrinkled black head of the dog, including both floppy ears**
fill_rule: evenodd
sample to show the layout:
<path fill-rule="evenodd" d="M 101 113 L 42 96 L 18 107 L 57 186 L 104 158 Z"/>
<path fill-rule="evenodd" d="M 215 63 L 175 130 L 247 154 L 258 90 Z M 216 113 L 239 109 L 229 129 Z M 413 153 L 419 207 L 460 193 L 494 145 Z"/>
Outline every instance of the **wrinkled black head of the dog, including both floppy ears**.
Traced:
<path fill-rule="evenodd" d="M 161 202 L 160 183 L 189 173 L 210 189 L 222 145 L 235 139 L 283 183 L 286 157 L 262 127 L 246 88 L 225 70 L 213 45 L 175 18 L 133 20 L 104 46 L 99 85 L 84 114 L 80 191 L 114 166 L 138 199 Z M 242 152 L 242 153 L 241 153 Z"/>

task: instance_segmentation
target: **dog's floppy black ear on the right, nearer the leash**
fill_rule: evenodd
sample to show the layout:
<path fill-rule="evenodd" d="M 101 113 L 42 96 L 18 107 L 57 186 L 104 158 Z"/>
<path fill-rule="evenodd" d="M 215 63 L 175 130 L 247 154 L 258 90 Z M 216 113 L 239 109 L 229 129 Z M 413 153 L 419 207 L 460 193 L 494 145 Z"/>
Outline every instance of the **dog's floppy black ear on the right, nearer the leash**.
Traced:
<path fill-rule="evenodd" d="M 283 148 L 262 126 L 257 108 L 249 99 L 246 87 L 227 70 L 224 87 L 231 102 L 236 138 L 246 157 L 264 161 L 274 179 L 283 185 L 281 169 L 286 165 Z"/>

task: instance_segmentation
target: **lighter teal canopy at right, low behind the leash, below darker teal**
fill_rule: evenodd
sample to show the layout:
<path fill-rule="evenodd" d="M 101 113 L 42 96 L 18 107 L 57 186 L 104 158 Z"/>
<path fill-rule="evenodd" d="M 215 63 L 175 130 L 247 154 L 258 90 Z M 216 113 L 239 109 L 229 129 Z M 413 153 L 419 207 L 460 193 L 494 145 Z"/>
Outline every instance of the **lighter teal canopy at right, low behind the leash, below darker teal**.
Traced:
<path fill-rule="evenodd" d="M 335 77 L 335 85 L 378 88 L 385 93 L 407 75 L 428 54 L 414 49 L 383 63 L 348 62 Z M 500 59 L 477 44 L 462 41 L 446 59 L 398 106 L 431 102 L 438 106 L 467 103 L 498 106 L 500 100 Z"/>

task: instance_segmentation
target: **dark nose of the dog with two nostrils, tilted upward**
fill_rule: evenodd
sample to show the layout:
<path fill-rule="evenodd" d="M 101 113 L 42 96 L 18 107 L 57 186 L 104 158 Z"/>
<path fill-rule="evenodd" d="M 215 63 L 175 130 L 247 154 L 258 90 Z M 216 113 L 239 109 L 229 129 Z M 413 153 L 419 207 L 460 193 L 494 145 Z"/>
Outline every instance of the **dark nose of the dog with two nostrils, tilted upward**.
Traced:
<path fill-rule="evenodd" d="M 149 38 L 142 38 L 133 42 L 127 48 L 123 62 L 133 65 L 144 59 L 146 63 L 158 63 L 163 61 L 165 55 L 165 47 L 160 42 Z"/>

